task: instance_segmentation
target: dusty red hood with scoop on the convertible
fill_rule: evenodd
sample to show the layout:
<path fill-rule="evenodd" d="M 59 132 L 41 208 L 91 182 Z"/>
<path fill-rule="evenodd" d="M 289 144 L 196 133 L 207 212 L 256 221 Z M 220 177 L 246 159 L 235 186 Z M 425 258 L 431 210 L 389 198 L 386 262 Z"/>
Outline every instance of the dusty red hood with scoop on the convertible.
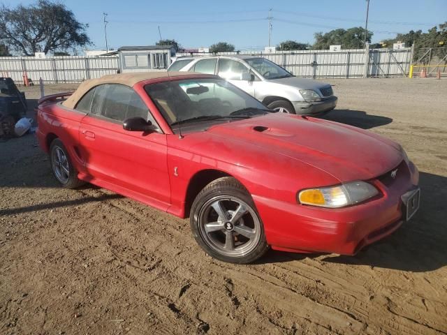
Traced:
<path fill-rule="evenodd" d="M 341 182 L 378 177 L 403 159 L 400 145 L 385 137 L 337 122 L 289 114 L 219 124 L 207 133 L 236 142 L 236 146 L 261 147 L 271 151 L 272 159 L 281 155 L 312 165 Z"/>

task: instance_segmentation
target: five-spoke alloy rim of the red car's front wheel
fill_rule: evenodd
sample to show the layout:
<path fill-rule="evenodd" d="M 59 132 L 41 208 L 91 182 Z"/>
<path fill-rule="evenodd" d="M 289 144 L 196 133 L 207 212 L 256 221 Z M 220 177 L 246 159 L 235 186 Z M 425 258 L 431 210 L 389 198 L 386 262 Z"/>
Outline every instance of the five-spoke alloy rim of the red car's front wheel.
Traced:
<path fill-rule="evenodd" d="M 261 239 L 261 221 L 254 209 L 228 195 L 205 202 L 198 215 L 198 228 L 210 248 L 230 257 L 247 255 Z"/>

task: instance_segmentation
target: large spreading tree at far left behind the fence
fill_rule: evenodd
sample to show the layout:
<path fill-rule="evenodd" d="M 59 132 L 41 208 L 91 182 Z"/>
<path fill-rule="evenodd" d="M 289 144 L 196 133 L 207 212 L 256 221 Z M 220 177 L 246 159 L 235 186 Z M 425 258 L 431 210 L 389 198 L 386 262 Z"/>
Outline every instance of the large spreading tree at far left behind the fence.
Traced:
<path fill-rule="evenodd" d="M 59 2 L 39 0 L 30 6 L 0 8 L 0 41 L 26 56 L 89 45 L 87 27 Z"/>

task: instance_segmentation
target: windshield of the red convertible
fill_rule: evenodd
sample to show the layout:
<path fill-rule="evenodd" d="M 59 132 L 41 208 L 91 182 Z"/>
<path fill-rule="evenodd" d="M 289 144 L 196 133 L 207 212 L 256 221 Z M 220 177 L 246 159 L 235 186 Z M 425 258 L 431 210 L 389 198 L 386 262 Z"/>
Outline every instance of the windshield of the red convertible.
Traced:
<path fill-rule="evenodd" d="M 270 110 L 249 94 L 222 79 L 170 80 L 145 86 L 168 124 L 231 121 L 262 115 Z"/>

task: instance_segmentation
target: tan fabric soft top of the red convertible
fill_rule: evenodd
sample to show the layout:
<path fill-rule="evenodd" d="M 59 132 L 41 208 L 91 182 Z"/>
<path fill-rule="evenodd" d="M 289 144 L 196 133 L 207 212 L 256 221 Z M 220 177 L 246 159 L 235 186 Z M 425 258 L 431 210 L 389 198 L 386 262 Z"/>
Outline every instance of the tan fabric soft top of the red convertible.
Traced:
<path fill-rule="evenodd" d="M 203 73 L 191 73 L 191 72 L 169 72 L 169 77 L 181 77 L 184 75 L 203 75 Z M 133 87 L 137 82 L 144 82 L 145 80 L 166 78 L 168 77 L 168 71 L 159 72 L 133 72 L 133 73 L 119 73 L 116 75 L 104 75 L 101 78 L 85 80 L 82 82 L 78 89 L 68 97 L 66 101 L 62 103 L 67 108 L 73 109 L 78 103 L 80 98 L 84 96 L 90 89 L 99 84 L 123 84 L 129 87 Z"/>

